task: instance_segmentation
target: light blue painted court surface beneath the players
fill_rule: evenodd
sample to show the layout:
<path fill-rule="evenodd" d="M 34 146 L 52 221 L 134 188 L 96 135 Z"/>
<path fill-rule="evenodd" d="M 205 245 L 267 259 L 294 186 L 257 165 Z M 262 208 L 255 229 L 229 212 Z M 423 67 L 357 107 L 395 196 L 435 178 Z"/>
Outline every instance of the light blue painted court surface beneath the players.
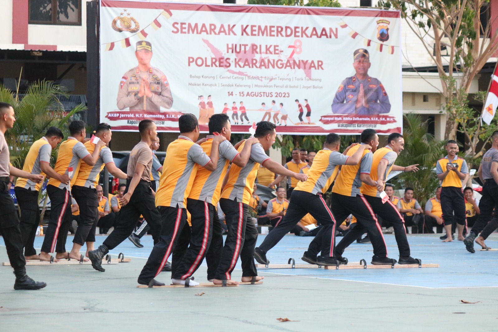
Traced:
<path fill-rule="evenodd" d="M 324 270 L 324 269 L 260 269 L 261 272 L 299 276 L 303 278 L 323 278 L 357 282 L 382 283 L 391 285 L 416 286 L 427 288 L 447 287 L 498 287 L 498 251 L 479 251 L 471 254 L 465 250 L 462 241 L 443 243 L 441 234 L 408 234 L 411 256 L 420 258 L 422 263 L 436 263 L 439 268 L 420 269 L 359 269 L 359 270 Z M 398 258 L 398 250 L 394 235 L 385 234 L 389 257 Z M 97 245 L 105 236 L 97 236 Z M 258 237 L 258 244 L 264 235 Z M 300 257 L 306 250 L 311 237 L 286 235 L 271 251 L 267 258 L 273 264 L 286 264 L 289 258 L 294 258 L 296 264 L 306 264 Z M 338 237 L 337 241 L 342 238 Z M 498 234 L 494 233 L 487 240 L 487 245 L 498 248 Z M 2 241 L 2 240 L 0 240 Z M 37 237 L 35 248 L 40 248 L 43 237 Z M 72 236 L 68 236 L 66 248 L 70 250 Z M 3 244 L 3 243 L 2 243 Z M 142 238 L 143 248 L 136 248 L 130 241 L 124 241 L 111 251 L 111 254 L 123 252 L 126 257 L 147 258 L 152 249 L 152 237 Z M 476 248 L 479 249 L 479 248 Z M 344 253 L 349 262 L 359 262 L 365 259 L 370 263 L 372 258 L 371 244 L 352 244 Z M 145 261 L 143 262 L 143 264 Z M 204 263 L 205 266 L 205 263 Z M 240 269 L 240 261 L 236 269 Z M 201 271 L 201 270 L 200 270 Z M 204 271 L 204 269 L 202 269 Z M 204 280 L 204 272 L 197 272 L 195 277 Z"/>

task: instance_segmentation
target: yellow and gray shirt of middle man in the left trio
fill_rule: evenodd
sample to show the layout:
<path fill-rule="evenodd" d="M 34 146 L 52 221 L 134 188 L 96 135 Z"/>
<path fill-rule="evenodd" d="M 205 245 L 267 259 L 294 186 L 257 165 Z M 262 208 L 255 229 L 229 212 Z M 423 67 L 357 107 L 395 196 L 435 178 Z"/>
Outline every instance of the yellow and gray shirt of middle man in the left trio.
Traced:
<path fill-rule="evenodd" d="M 57 162 L 55 162 L 54 170 L 59 174 L 69 174 L 68 167 L 73 167 L 73 174 L 70 175 L 72 186 L 76 182 L 78 171 L 80 170 L 81 160 L 90 155 L 87 148 L 80 141 L 74 137 L 68 137 L 67 141 L 61 143 L 59 153 L 57 155 Z M 69 185 L 61 183 L 61 181 L 51 178 L 48 180 L 51 184 L 59 189 L 69 189 Z"/>

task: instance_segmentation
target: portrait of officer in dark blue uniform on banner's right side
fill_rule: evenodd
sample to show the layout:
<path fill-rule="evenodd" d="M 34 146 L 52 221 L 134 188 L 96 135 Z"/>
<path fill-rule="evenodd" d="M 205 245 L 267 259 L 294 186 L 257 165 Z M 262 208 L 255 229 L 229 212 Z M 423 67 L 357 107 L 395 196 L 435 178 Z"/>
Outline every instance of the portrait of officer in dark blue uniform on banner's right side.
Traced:
<path fill-rule="evenodd" d="M 359 48 L 353 53 L 353 58 L 353 67 L 356 73 L 339 85 L 332 103 L 332 113 L 389 113 L 391 104 L 384 86 L 378 79 L 370 77 L 368 74 L 372 65 L 369 51 L 365 48 Z"/>

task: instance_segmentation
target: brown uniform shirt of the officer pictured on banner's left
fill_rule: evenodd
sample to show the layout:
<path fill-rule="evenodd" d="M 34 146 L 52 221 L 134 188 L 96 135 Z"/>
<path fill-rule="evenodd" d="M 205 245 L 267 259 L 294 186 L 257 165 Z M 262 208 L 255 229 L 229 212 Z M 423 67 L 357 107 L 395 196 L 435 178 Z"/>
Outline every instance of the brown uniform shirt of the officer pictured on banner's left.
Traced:
<path fill-rule="evenodd" d="M 147 78 L 152 96 L 138 97 L 142 77 Z M 131 68 L 121 78 L 118 90 L 117 106 L 120 110 L 159 111 L 160 107 L 169 110 L 173 105 L 173 97 L 166 75 L 155 67 L 141 72 L 138 66 Z"/>

